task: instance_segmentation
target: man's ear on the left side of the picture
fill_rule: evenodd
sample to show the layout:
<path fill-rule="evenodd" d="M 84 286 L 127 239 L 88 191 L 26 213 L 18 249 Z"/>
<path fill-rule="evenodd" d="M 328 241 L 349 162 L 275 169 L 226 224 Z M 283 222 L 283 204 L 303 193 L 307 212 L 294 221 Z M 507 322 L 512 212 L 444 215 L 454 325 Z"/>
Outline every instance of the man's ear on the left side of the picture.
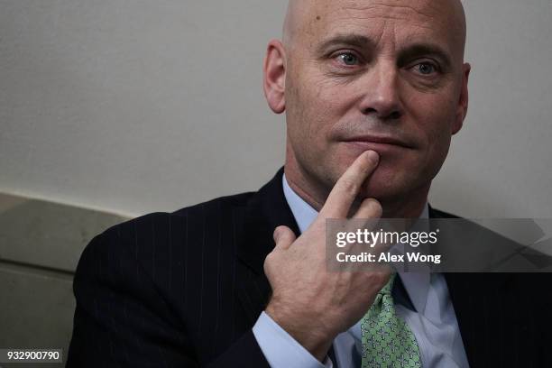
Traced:
<path fill-rule="evenodd" d="M 281 114 L 286 109 L 286 99 L 284 95 L 286 86 L 285 60 L 285 50 L 281 41 L 270 41 L 262 68 L 262 87 L 264 88 L 264 97 L 266 97 L 266 101 L 271 107 L 271 110 L 276 114 Z"/>

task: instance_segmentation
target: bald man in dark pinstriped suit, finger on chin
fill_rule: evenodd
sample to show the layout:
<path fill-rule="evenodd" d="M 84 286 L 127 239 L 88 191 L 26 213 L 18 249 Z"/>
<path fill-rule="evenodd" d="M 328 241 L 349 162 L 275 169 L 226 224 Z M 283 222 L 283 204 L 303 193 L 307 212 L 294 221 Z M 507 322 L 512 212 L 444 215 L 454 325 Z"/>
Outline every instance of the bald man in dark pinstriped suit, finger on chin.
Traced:
<path fill-rule="evenodd" d="M 68 366 L 551 363 L 535 278 L 326 268 L 327 218 L 449 216 L 427 200 L 467 112 L 464 49 L 457 0 L 290 1 L 264 62 L 284 170 L 98 235 Z"/>

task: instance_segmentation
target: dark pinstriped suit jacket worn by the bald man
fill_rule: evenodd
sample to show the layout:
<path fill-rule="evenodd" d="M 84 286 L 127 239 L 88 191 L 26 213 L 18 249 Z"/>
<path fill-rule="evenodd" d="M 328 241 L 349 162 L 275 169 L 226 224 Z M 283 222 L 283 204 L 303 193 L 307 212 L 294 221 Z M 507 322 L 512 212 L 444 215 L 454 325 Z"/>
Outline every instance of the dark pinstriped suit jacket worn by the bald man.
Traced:
<path fill-rule="evenodd" d="M 277 225 L 299 234 L 281 175 L 256 193 L 97 235 L 75 276 L 67 366 L 268 366 L 252 332 L 271 292 L 262 265 Z M 552 366 L 548 275 L 449 273 L 446 281 L 472 367 Z"/>

